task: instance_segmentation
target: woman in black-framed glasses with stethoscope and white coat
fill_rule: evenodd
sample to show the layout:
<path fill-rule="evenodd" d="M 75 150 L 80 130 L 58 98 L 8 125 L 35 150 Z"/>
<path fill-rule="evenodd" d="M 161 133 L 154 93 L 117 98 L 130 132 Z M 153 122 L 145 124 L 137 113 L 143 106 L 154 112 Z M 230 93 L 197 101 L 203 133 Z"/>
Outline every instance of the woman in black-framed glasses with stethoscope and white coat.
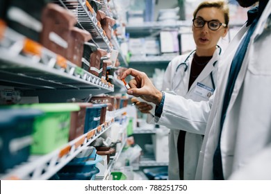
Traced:
<path fill-rule="evenodd" d="M 165 71 L 162 90 L 201 101 L 208 100 L 215 90 L 216 62 L 221 53 L 217 42 L 227 35 L 229 8 L 224 1 L 204 1 L 196 8 L 193 17 L 192 33 L 196 49 L 170 62 Z M 136 106 L 142 113 L 149 113 L 152 108 L 142 102 L 136 103 Z M 151 115 L 148 117 L 151 118 Z M 170 130 L 169 179 L 195 179 L 203 134 L 186 129 Z"/>

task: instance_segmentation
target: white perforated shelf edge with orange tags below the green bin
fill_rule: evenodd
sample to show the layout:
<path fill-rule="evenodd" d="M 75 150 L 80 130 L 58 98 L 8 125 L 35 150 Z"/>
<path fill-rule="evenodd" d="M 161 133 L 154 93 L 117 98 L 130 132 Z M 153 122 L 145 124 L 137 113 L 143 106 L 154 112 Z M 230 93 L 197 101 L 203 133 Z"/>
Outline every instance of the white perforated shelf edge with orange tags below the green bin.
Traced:
<path fill-rule="evenodd" d="M 113 122 L 114 118 L 106 121 L 105 124 L 99 125 L 99 127 L 94 129 L 96 131 L 95 135 L 90 138 L 88 137 L 90 132 L 88 132 L 48 155 L 31 156 L 28 161 L 10 169 L 5 175 L 0 175 L 0 179 L 49 179 L 78 155 L 83 148 L 90 145 L 92 141 L 95 141 L 97 137 L 106 132 Z M 97 132 L 99 128 L 101 128 L 101 131 Z"/>

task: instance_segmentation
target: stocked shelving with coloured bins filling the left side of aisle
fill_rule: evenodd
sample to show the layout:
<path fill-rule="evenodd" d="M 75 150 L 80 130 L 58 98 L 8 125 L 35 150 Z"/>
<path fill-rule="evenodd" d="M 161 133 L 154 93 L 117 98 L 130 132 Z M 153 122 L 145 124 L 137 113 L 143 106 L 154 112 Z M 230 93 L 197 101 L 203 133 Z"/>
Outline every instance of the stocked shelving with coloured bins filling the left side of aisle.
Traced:
<path fill-rule="evenodd" d="M 129 101 L 117 22 L 107 0 L 1 0 L 0 179 L 112 179 Z"/>

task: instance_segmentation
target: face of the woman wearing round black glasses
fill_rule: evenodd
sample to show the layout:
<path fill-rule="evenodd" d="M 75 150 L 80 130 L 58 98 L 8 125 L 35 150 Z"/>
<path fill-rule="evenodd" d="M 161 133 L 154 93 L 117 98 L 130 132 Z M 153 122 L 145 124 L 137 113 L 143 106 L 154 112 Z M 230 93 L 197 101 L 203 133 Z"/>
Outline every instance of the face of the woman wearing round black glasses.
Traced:
<path fill-rule="evenodd" d="M 197 12 L 195 19 L 204 19 L 205 21 L 219 21 L 225 23 L 224 13 L 218 8 L 202 8 Z M 220 37 L 227 35 L 228 28 L 220 26 L 218 30 L 211 30 L 208 28 L 207 22 L 202 28 L 195 28 L 192 26 L 193 37 L 197 45 L 197 55 L 213 55 L 217 42 Z"/>

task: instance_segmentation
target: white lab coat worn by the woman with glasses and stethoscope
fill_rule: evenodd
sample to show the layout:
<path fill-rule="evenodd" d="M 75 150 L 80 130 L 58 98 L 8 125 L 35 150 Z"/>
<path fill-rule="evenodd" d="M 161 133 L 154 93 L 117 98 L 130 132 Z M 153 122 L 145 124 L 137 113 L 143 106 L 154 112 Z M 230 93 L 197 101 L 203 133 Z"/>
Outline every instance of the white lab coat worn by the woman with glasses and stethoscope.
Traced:
<path fill-rule="evenodd" d="M 213 89 L 211 82 L 211 72 L 213 72 L 213 81 L 216 85 L 217 80 L 217 64 L 215 62 L 220 57 L 220 48 L 217 48 L 213 54 L 213 58 L 206 64 L 206 67 L 191 85 L 190 90 L 188 91 L 188 83 L 190 78 L 190 67 L 192 58 L 195 53 L 192 53 L 188 58 L 188 54 L 180 55 L 174 58 L 170 64 L 167 66 L 165 71 L 165 76 L 163 80 L 163 90 L 165 91 L 174 91 L 177 95 L 183 96 L 184 98 L 190 98 L 195 101 L 208 100 L 208 96 L 200 96 L 195 93 L 197 88 L 197 82 L 206 85 Z M 188 60 L 186 60 L 188 58 Z M 188 65 L 188 69 L 184 71 L 185 66 L 181 65 L 178 69 L 178 65 L 182 62 L 185 62 Z M 177 69 L 177 70 L 176 70 Z M 179 179 L 179 162 L 178 162 L 178 152 L 177 152 L 177 141 L 179 136 L 178 130 L 170 130 L 169 136 L 169 150 L 170 150 L 170 163 L 168 166 L 169 179 Z M 195 173 L 197 168 L 197 159 L 199 157 L 200 148 L 202 148 L 204 133 L 186 133 L 185 140 L 185 155 L 184 155 L 184 179 L 195 179 Z"/>

